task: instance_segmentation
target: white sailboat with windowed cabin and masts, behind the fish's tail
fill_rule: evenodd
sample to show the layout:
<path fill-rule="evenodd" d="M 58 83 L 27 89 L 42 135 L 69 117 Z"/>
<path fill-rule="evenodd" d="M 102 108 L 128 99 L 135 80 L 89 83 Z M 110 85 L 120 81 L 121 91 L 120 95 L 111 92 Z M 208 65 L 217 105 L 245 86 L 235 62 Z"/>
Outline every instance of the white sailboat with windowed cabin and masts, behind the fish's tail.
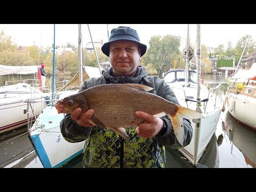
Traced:
<path fill-rule="evenodd" d="M 194 133 L 190 144 L 179 149 L 180 153 L 194 167 L 207 150 L 223 108 L 222 85 L 208 88 L 201 79 L 201 26 L 196 26 L 196 68 L 189 69 L 189 60 L 193 58 L 193 49 L 189 45 L 189 25 L 186 45 L 185 69 L 171 69 L 165 73 L 164 80 L 172 88 L 181 106 L 201 113 L 204 118 L 193 119 L 191 125 Z"/>

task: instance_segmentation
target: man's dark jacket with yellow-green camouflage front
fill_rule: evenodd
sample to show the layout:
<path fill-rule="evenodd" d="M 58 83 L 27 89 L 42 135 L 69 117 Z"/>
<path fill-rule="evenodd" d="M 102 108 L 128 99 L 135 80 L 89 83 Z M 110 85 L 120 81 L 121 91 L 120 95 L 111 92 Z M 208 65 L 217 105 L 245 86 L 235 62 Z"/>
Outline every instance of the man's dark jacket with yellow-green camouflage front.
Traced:
<path fill-rule="evenodd" d="M 87 79 L 82 88 L 110 83 L 137 83 L 154 88 L 155 94 L 171 102 L 178 103 L 174 92 L 163 79 L 147 76 L 143 67 L 138 67 L 135 77 L 113 77 L 112 68 L 102 71 L 103 77 Z M 181 146 L 175 137 L 169 116 L 161 117 L 163 129 L 153 138 L 142 138 L 136 132 L 136 127 L 126 128 L 129 139 L 123 140 L 112 130 L 97 126 L 83 127 L 67 114 L 60 122 L 63 138 L 68 142 L 85 141 L 84 167 L 164 167 L 164 147 L 181 148 L 187 146 L 192 138 L 193 129 L 188 119 L 183 119 L 185 131 L 184 145 Z"/>

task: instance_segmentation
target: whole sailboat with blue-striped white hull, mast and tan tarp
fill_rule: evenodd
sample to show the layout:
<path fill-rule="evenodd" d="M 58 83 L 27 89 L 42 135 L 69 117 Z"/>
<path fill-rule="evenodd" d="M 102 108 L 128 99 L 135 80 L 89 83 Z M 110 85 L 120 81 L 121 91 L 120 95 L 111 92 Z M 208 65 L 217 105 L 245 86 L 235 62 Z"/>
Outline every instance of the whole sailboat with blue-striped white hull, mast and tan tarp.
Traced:
<path fill-rule="evenodd" d="M 100 71 L 98 68 L 82 66 L 81 24 L 78 25 L 78 32 L 79 71 L 74 76 L 74 78 L 71 79 L 71 81 L 65 86 L 65 89 L 70 88 L 70 90 L 61 89 L 61 91 L 58 91 L 59 97 L 52 97 L 52 99 L 49 100 L 49 102 L 51 102 L 51 105 L 49 104 L 49 106 L 47 106 L 42 111 L 42 113 L 36 119 L 36 122 L 33 125 L 30 125 L 28 121 L 28 137 L 43 167 L 45 168 L 61 167 L 62 165 L 68 163 L 71 159 L 83 153 L 83 142 L 70 143 L 62 138 L 62 134 L 60 132 L 60 122 L 63 119 L 64 115 L 58 114 L 57 109 L 53 106 L 53 102 L 59 99 L 63 99 L 68 95 L 77 93 L 79 87 L 82 85 L 85 79 L 100 76 Z M 53 51 L 53 66 L 55 55 L 54 53 L 55 51 Z M 79 82 L 77 81 L 78 79 Z M 75 86 L 75 84 L 78 86 Z"/>

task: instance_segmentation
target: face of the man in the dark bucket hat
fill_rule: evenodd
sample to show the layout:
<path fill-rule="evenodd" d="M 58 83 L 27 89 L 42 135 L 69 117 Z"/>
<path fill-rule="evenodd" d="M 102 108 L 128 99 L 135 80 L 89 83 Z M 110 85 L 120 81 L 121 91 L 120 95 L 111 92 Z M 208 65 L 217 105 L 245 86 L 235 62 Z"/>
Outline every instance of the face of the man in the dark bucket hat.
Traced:
<path fill-rule="evenodd" d="M 141 50 L 137 42 L 118 40 L 109 45 L 109 59 L 117 75 L 129 76 L 139 65 Z"/>

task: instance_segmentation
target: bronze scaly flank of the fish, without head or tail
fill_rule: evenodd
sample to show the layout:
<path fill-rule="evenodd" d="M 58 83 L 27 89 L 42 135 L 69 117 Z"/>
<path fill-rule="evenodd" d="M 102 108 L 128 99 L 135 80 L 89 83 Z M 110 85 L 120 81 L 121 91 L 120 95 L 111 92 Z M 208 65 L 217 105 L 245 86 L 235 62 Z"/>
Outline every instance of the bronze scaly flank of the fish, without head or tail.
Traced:
<path fill-rule="evenodd" d="M 95 110 L 94 117 L 101 119 L 101 122 L 106 127 L 137 126 L 143 119 L 136 117 L 134 115 L 135 111 L 144 111 L 145 113 L 155 115 L 161 113 L 164 104 L 166 105 L 166 100 L 155 97 L 154 94 L 134 90 L 132 87 L 125 86 L 125 89 L 122 89 L 122 87 L 123 84 L 110 87 L 108 90 L 109 94 L 101 94 L 100 92 L 103 90 L 101 87 L 98 87 L 98 89 L 95 89 L 95 92 L 97 92 L 95 95 L 99 94 L 97 98 L 87 98 L 85 95 L 90 108 Z M 110 91 L 111 89 L 113 91 Z M 98 99 L 101 97 L 105 100 L 103 104 Z M 110 105 L 110 103 L 113 104 Z"/>

